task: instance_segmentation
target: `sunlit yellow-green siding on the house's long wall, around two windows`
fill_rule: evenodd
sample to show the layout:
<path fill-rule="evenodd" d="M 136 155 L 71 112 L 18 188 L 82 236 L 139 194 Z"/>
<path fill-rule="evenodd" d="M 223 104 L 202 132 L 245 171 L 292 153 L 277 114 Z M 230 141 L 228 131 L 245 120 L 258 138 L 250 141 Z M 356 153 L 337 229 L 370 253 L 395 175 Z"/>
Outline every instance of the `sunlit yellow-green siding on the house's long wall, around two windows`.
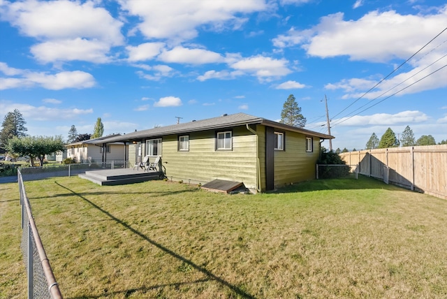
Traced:
<path fill-rule="evenodd" d="M 167 177 L 202 184 L 214 179 L 240 181 L 256 189 L 256 136 L 245 126 L 223 131 L 233 132 L 233 150 L 215 149 L 214 130 L 189 133 L 189 152 L 178 150 L 178 135 L 163 136 Z"/>

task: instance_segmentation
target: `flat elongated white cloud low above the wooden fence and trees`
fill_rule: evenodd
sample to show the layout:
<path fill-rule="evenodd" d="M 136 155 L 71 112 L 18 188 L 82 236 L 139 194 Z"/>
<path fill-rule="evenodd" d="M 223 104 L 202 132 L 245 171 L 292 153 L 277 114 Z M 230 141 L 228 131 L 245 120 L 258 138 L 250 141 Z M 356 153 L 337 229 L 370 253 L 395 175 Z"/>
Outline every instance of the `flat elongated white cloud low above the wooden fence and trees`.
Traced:
<path fill-rule="evenodd" d="M 402 111 L 394 115 L 388 113 L 377 113 L 374 115 L 360 116 L 342 119 L 333 119 L 332 123 L 336 126 L 391 126 L 397 124 L 416 124 L 418 122 L 425 122 L 429 117 L 420 111 Z"/>

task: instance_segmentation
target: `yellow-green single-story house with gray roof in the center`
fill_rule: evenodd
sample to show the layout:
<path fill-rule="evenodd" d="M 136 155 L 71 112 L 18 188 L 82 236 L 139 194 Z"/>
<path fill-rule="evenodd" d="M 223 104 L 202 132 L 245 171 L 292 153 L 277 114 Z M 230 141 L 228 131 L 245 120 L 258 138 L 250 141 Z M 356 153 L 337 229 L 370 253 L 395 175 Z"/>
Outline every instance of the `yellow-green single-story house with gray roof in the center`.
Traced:
<path fill-rule="evenodd" d="M 122 142 L 131 166 L 162 156 L 166 176 L 202 184 L 215 179 L 268 191 L 316 177 L 323 133 L 244 113 L 135 131 L 102 140 Z"/>

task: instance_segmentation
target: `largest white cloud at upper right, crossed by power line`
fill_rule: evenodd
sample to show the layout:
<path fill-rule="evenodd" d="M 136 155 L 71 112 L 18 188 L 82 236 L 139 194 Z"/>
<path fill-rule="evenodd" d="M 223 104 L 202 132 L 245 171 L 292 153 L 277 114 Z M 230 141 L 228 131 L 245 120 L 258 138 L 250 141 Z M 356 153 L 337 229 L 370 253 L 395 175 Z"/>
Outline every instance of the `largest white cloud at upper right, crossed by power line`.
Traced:
<path fill-rule="evenodd" d="M 352 60 L 388 61 L 408 58 L 447 22 L 447 6 L 433 15 L 400 15 L 394 10 L 372 11 L 359 20 L 343 20 L 343 13 L 321 18 L 312 29 L 291 29 L 274 38 L 284 48 L 301 44 L 316 57 L 348 55 Z M 330 45 L 330 47 L 328 47 Z"/>

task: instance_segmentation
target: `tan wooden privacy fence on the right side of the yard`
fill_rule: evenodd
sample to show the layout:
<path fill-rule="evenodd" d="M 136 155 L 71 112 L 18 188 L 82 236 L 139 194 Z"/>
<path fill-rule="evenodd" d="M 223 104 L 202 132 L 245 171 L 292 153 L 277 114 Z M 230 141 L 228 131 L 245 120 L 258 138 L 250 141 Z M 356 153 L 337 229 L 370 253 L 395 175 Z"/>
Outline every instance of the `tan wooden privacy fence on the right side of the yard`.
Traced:
<path fill-rule="evenodd" d="M 447 145 L 367 149 L 340 156 L 358 164 L 362 175 L 447 199 Z"/>

